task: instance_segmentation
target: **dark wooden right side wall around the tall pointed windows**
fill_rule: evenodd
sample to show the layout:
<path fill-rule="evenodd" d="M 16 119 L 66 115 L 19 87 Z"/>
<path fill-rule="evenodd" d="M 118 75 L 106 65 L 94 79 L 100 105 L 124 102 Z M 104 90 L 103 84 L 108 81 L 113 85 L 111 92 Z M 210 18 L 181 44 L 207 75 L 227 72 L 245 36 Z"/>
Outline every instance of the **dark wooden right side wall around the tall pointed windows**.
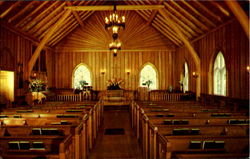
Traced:
<path fill-rule="evenodd" d="M 219 51 L 222 51 L 227 67 L 227 96 L 234 98 L 249 98 L 249 40 L 236 20 L 207 34 L 193 42 L 193 46 L 201 59 L 201 93 L 212 94 L 212 63 Z M 176 52 L 175 78 L 179 77 L 182 65 L 186 60 L 189 64 L 190 76 L 195 71 L 192 57 L 185 47 Z M 195 91 L 195 79 L 190 78 L 190 89 Z M 175 83 L 177 85 L 177 83 Z"/>

